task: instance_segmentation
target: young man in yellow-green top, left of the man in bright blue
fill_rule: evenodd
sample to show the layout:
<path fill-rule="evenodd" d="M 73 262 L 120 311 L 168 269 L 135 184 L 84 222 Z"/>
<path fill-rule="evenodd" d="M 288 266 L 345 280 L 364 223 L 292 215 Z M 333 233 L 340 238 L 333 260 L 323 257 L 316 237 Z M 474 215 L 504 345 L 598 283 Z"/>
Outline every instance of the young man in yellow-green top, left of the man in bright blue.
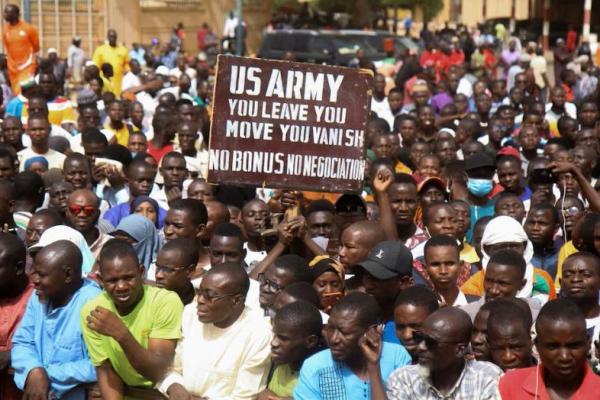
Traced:
<path fill-rule="evenodd" d="M 319 310 L 305 301 L 282 307 L 273 318 L 271 360 L 275 369 L 259 399 L 291 398 L 304 360 L 319 351 L 323 323 Z"/>

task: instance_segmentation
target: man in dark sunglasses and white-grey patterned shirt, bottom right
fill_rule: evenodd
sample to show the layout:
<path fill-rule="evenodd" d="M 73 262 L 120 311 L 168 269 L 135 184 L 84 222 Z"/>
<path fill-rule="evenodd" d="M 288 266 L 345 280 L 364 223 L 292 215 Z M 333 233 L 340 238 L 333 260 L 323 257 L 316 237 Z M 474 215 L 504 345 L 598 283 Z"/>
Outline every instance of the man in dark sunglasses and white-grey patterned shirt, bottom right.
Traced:
<path fill-rule="evenodd" d="M 466 360 L 473 325 L 464 311 L 445 307 L 431 314 L 420 331 L 418 364 L 394 371 L 387 380 L 387 398 L 396 399 L 498 399 L 502 370 L 486 361 Z M 372 393 L 383 392 L 383 383 Z M 373 400 L 385 397 L 372 396 Z"/>

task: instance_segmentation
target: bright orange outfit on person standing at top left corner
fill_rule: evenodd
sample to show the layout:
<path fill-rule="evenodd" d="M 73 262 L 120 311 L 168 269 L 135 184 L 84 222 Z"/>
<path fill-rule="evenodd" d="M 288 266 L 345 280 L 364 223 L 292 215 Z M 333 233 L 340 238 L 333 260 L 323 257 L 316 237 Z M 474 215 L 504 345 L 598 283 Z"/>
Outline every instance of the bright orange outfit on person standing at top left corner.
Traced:
<path fill-rule="evenodd" d="M 2 33 L 8 55 L 8 77 L 15 95 L 21 93 L 20 83 L 35 74 L 35 53 L 40 50 L 37 29 L 25 21 L 4 25 Z"/>

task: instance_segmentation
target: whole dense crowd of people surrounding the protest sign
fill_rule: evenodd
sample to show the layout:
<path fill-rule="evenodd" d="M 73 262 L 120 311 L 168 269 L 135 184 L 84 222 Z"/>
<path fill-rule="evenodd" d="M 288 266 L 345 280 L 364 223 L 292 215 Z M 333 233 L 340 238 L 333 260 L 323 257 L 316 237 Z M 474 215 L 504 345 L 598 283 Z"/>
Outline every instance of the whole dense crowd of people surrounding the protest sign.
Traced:
<path fill-rule="evenodd" d="M 591 54 L 557 42 L 553 83 L 515 38 L 359 51 L 363 191 L 319 193 L 206 181 L 202 57 L 110 30 L 71 100 L 4 18 L 1 399 L 598 396 Z"/>

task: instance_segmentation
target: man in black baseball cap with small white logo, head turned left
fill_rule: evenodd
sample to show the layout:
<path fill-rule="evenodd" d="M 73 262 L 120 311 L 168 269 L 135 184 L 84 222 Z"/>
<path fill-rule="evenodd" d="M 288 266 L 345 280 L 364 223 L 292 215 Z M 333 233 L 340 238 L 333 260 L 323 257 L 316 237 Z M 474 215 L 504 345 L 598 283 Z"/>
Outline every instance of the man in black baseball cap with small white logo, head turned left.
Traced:
<path fill-rule="evenodd" d="M 375 297 L 381 308 L 385 342 L 400 343 L 394 324 L 394 304 L 398 294 L 414 283 L 412 262 L 412 254 L 406 246 L 385 241 L 375 245 L 367 259 L 356 266 L 361 270 L 366 292 Z"/>

